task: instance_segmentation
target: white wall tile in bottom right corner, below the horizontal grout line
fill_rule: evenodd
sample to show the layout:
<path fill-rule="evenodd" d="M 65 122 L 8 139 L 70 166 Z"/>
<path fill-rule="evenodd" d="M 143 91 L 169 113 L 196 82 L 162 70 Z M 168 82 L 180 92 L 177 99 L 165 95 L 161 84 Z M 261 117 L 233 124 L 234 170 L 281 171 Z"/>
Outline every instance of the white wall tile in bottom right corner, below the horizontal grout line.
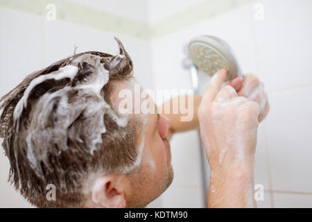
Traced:
<path fill-rule="evenodd" d="M 312 195 L 274 194 L 274 200 L 277 208 L 312 207 Z"/>

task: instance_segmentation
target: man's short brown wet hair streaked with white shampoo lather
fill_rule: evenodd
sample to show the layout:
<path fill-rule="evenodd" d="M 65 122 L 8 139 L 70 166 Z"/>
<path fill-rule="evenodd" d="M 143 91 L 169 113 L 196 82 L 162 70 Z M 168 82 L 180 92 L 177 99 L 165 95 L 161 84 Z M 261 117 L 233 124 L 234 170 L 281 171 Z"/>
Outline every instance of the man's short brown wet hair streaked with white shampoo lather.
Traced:
<path fill-rule="evenodd" d="M 110 94 L 133 77 L 119 55 L 80 53 L 26 76 L 0 100 L 0 137 L 9 182 L 37 207 L 83 207 L 90 173 L 124 173 L 135 162 L 139 123 L 114 108 Z M 47 185 L 56 200 L 47 200 Z"/>

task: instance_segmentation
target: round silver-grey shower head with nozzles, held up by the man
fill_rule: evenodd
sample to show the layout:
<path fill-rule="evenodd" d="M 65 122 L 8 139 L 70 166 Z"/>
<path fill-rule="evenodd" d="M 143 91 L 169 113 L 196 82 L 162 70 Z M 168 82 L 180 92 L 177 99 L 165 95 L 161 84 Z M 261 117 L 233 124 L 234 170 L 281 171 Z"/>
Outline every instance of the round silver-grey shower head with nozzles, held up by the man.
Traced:
<path fill-rule="evenodd" d="M 209 76 L 213 76 L 222 68 L 228 71 L 227 80 L 241 75 L 234 51 L 218 37 L 211 35 L 193 37 L 189 42 L 188 52 L 196 67 Z"/>

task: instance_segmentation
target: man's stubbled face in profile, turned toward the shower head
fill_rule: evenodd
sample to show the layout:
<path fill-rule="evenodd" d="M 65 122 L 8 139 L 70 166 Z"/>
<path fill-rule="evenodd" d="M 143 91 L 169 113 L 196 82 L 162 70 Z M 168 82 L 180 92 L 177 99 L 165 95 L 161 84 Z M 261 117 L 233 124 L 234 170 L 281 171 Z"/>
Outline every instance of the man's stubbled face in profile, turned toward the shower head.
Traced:
<path fill-rule="evenodd" d="M 118 107 L 122 98 L 119 92 L 130 90 L 135 101 L 135 81 L 117 83 L 112 92 L 111 101 Z M 143 92 L 143 89 L 140 89 Z M 141 96 L 140 96 L 141 97 Z M 139 97 L 139 98 L 140 98 Z M 135 106 L 143 105 L 148 99 L 148 113 L 135 113 Z M 132 105 L 132 118 L 141 119 L 142 126 L 137 141 L 138 156 L 141 154 L 141 167 L 129 173 L 130 191 L 127 196 L 127 207 L 145 207 L 152 200 L 162 194 L 173 180 L 173 169 L 171 166 L 171 150 L 166 134 L 171 127 L 171 121 L 157 114 L 157 107 L 148 95 L 140 102 Z M 146 104 L 146 103 L 144 103 Z"/>

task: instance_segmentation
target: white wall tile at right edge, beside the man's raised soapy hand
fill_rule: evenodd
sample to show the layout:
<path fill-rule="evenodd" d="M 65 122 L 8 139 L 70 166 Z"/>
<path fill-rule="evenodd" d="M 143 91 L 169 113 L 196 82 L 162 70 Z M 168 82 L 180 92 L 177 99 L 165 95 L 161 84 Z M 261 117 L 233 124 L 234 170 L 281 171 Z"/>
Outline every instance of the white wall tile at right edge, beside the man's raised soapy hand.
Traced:
<path fill-rule="evenodd" d="M 272 189 L 312 191 L 312 87 L 269 94 L 264 122 Z"/>

